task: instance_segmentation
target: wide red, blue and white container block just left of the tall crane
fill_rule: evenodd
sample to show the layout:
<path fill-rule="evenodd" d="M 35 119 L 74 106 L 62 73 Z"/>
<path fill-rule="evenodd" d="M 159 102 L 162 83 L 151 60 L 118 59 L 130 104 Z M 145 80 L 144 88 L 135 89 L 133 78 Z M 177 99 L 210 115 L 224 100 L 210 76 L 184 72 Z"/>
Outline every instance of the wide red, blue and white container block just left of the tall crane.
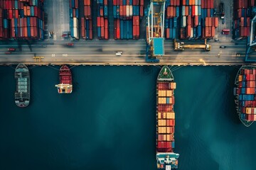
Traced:
<path fill-rule="evenodd" d="M 144 0 L 113 0 L 114 39 L 139 39 Z"/>

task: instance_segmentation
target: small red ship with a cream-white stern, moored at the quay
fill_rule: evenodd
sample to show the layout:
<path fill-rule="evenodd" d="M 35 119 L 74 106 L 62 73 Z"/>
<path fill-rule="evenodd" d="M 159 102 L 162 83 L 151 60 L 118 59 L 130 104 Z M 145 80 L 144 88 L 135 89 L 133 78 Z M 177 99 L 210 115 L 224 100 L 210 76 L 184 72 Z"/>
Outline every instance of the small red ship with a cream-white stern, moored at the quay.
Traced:
<path fill-rule="evenodd" d="M 71 94 L 73 90 L 72 74 L 68 66 L 60 67 L 60 84 L 55 85 L 59 94 Z"/>

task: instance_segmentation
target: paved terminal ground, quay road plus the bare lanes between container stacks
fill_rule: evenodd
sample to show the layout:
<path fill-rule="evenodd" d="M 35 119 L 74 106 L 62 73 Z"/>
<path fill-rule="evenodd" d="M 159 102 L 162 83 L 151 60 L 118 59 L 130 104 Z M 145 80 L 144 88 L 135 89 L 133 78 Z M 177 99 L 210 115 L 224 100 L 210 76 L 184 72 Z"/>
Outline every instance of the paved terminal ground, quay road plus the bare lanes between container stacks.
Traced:
<path fill-rule="evenodd" d="M 212 45 L 210 52 L 201 50 L 186 50 L 183 52 L 174 51 L 174 42 L 172 40 L 165 41 L 165 56 L 161 58 L 159 64 L 168 62 L 169 64 L 243 64 L 245 57 L 245 41 L 233 41 L 231 35 L 221 35 L 223 28 L 231 29 L 231 21 L 233 16 L 232 0 L 225 1 L 225 24 L 220 23 L 218 28 L 218 38 L 220 42 L 214 40 L 208 41 Z M 146 42 L 145 40 L 76 40 L 74 47 L 67 47 L 67 40 L 62 40 L 63 31 L 69 30 L 69 1 L 68 0 L 46 0 L 47 26 L 50 31 L 53 30 L 56 40 L 48 39 L 45 41 L 1 41 L 0 42 L 0 61 L 2 64 L 26 62 L 32 63 L 33 56 L 43 56 L 41 64 L 49 63 L 139 63 L 144 62 Z M 93 1 L 96 4 L 96 1 Z M 218 9 L 220 0 L 215 1 Z M 145 3 L 146 4 L 146 3 Z M 93 12 L 95 17 L 95 12 Z M 112 17 L 110 12 L 110 18 Z M 144 17 L 145 19 L 145 17 Z M 145 23 L 145 21 L 143 21 Z M 144 27 L 144 23 L 142 24 Z M 94 24 L 96 24 L 94 22 Z M 110 23 L 110 29 L 113 29 Z M 144 35 L 145 30 L 141 29 Z M 95 31 L 95 33 L 97 33 Z M 110 37 L 113 33 L 110 30 Z M 216 36 L 217 36 L 216 35 Z M 47 47 L 43 47 L 47 45 Z M 226 45 L 227 48 L 220 49 L 220 45 Z M 5 55 L 8 47 L 17 48 L 16 52 L 11 55 Z M 115 52 L 123 51 L 121 57 L 115 56 Z M 240 53 L 240 57 L 236 54 Z M 218 56 L 220 54 L 220 56 Z M 256 55 L 253 55 L 256 57 Z M 38 64 L 38 62 L 35 62 Z M 39 63 L 40 64 L 40 63 Z M 156 64 L 156 63 L 155 63 Z"/>

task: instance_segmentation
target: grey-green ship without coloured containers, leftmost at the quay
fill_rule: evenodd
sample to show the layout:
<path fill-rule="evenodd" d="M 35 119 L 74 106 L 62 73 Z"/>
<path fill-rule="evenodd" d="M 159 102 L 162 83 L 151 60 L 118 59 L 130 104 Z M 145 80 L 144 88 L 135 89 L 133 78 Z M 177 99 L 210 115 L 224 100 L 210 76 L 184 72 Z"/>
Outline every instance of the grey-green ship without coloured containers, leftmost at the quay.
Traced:
<path fill-rule="evenodd" d="M 18 64 L 15 69 L 16 91 L 15 103 L 18 107 L 28 106 L 30 101 L 30 77 L 28 67 L 25 64 Z"/>

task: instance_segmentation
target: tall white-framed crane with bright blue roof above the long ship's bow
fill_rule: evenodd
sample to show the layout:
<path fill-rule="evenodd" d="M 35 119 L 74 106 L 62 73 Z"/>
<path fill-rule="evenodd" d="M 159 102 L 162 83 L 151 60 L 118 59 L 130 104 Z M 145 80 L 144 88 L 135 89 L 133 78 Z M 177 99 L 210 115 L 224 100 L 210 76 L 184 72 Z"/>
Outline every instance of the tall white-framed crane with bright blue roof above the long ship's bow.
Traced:
<path fill-rule="evenodd" d="M 164 55 L 164 12 L 166 0 L 151 0 L 146 18 L 146 62 L 159 62 Z"/>

